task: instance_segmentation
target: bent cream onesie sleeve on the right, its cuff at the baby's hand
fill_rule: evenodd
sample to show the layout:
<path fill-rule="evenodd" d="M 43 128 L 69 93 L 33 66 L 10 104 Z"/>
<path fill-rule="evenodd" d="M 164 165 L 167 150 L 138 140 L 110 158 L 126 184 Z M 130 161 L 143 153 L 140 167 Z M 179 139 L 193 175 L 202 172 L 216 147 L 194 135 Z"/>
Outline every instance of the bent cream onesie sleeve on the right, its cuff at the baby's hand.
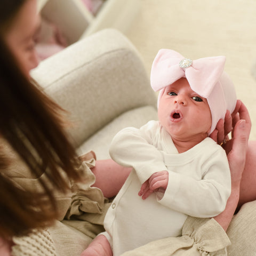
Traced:
<path fill-rule="evenodd" d="M 202 179 L 169 171 L 169 182 L 159 203 L 193 217 L 211 218 L 225 210 L 231 193 L 230 170 L 220 148 L 203 163 Z"/>

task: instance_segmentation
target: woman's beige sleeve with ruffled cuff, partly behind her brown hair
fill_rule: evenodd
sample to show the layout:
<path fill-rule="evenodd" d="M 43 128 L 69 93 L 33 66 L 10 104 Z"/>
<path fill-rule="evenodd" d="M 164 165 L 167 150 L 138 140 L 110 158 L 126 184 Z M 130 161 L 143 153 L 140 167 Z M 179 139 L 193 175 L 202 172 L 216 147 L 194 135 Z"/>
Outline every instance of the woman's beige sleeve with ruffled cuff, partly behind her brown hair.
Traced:
<path fill-rule="evenodd" d="M 0 139 L 0 147 L 1 153 L 8 157 L 10 163 L 6 170 L 1 170 L 1 173 L 24 190 L 41 192 L 42 186 L 39 179 L 47 182 L 46 175 L 34 177 L 27 165 L 3 138 Z M 91 167 L 95 166 L 95 154 L 90 151 L 81 158 L 83 163 L 76 171 L 81 174 L 83 179 L 80 182 L 69 181 L 70 190 L 67 193 L 52 188 L 60 213 L 58 220 L 79 217 L 83 213 L 102 214 L 105 211 L 106 201 L 101 190 L 91 187 L 95 182 L 95 176 L 90 170 Z M 63 177 L 66 176 L 65 173 L 62 175 Z"/>

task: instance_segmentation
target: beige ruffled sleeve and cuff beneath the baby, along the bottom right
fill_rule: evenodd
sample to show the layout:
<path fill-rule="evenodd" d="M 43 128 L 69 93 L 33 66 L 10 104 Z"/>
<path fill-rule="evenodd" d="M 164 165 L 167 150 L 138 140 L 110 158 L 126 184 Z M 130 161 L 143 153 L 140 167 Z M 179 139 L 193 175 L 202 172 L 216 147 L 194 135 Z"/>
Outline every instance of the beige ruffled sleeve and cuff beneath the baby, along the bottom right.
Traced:
<path fill-rule="evenodd" d="M 182 236 L 153 241 L 122 256 L 226 256 L 228 245 L 229 238 L 217 221 L 188 217 Z"/>

